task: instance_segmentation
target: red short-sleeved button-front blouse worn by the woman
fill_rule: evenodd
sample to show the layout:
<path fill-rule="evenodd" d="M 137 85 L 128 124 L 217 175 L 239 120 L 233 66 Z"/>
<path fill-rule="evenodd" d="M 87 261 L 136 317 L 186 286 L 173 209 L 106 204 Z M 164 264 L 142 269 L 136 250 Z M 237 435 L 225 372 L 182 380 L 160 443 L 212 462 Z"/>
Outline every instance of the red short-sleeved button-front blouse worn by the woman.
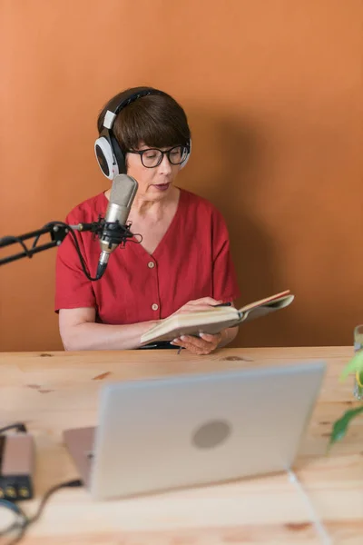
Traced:
<path fill-rule="evenodd" d="M 105 213 L 104 193 L 84 201 L 66 223 L 91 223 Z M 93 276 L 100 243 L 92 233 L 76 233 Z M 56 260 L 55 311 L 93 307 L 97 322 L 125 324 L 166 318 L 201 297 L 229 302 L 240 296 L 230 242 L 221 213 L 206 199 L 181 190 L 177 211 L 152 255 L 128 242 L 111 253 L 101 280 L 83 273 L 74 241 L 67 236 Z"/>

